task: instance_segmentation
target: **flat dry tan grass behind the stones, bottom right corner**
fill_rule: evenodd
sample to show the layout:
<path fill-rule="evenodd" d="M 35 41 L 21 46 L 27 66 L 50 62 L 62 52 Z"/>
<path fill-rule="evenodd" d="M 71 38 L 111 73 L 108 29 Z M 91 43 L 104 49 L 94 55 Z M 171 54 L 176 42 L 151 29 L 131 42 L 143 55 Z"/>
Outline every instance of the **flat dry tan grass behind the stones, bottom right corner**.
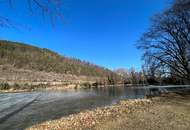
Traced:
<path fill-rule="evenodd" d="M 149 107 L 124 114 L 97 125 L 95 130 L 189 130 L 190 95 L 153 99 Z"/>

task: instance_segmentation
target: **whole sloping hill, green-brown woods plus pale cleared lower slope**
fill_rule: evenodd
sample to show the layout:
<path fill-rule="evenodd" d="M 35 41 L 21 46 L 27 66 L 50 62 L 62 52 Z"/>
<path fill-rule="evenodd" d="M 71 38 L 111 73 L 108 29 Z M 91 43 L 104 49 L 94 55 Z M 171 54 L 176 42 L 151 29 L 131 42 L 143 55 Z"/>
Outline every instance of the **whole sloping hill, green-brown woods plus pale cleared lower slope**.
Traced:
<path fill-rule="evenodd" d="M 0 79 L 4 81 L 14 79 L 17 81 L 86 79 L 88 81 L 90 79 L 90 81 L 112 83 L 113 80 L 120 78 L 108 69 L 79 59 L 61 56 L 45 48 L 3 40 L 0 41 L 0 71 L 2 74 Z"/>

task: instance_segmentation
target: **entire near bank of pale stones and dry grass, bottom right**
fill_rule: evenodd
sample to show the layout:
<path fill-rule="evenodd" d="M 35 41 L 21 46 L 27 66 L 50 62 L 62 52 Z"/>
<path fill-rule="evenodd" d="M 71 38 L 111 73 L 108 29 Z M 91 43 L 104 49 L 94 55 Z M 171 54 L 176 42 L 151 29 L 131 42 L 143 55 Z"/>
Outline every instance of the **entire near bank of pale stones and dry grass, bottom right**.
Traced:
<path fill-rule="evenodd" d="M 186 130 L 190 128 L 189 101 L 189 94 L 172 93 L 151 99 L 126 100 L 38 124 L 28 130 Z"/>

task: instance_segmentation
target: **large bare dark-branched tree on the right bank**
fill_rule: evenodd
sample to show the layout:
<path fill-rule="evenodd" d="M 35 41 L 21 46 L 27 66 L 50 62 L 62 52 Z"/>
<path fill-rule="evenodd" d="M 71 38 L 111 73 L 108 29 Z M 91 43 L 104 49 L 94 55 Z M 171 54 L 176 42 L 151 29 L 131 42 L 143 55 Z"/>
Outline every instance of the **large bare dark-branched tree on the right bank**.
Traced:
<path fill-rule="evenodd" d="M 162 74 L 189 82 L 190 0 L 176 0 L 172 7 L 156 15 L 137 47 L 145 51 L 145 61 L 151 59 Z"/>

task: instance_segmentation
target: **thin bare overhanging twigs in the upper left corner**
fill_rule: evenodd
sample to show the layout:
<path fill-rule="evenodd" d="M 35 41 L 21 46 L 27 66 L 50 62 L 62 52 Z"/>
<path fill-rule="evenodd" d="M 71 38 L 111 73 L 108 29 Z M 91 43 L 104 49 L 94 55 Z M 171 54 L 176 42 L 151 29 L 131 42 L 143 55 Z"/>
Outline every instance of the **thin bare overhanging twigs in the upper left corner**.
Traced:
<path fill-rule="evenodd" d="M 13 8 L 19 0 L 1 0 L 0 4 L 8 5 Z M 28 10 L 32 13 L 40 11 L 42 16 L 47 16 L 52 24 L 56 19 L 63 19 L 62 7 L 63 0 L 23 0 L 27 3 Z M 6 16 L 0 16 L 0 27 L 15 27 L 15 22 Z"/>

